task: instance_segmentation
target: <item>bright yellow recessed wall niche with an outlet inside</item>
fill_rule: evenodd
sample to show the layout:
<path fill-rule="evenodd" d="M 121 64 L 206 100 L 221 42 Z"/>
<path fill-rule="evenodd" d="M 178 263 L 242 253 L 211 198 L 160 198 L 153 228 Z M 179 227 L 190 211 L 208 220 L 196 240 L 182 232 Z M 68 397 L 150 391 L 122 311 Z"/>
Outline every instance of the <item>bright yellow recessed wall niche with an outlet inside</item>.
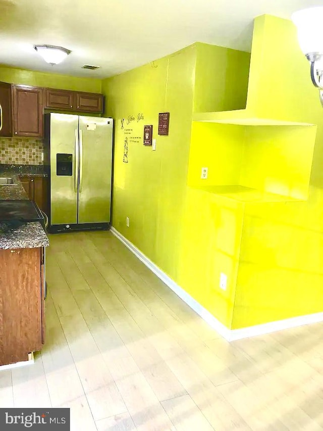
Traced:
<path fill-rule="evenodd" d="M 194 121 L 188 185 L 240 202 L 307 200 L 315 135 L 316 126 Z"/>

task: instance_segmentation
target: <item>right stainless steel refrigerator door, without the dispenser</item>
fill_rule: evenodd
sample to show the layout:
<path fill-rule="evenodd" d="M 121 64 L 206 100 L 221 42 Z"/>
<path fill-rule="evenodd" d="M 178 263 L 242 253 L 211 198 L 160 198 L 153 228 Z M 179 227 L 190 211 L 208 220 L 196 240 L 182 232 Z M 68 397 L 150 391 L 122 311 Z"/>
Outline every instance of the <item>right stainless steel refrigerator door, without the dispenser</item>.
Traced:
<path fill-rule="evenodd" d="M 110 221 L 113 119 L 80 117 L 79 223 Z"/>

